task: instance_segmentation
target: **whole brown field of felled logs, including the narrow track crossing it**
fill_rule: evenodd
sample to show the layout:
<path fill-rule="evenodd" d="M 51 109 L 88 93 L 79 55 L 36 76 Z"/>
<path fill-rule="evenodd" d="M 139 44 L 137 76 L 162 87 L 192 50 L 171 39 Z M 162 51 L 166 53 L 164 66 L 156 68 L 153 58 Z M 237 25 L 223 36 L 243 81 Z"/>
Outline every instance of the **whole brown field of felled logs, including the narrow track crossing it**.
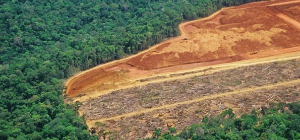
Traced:
<path fill-rule="evenodd" d="M 155 128 L 181 130 L 228 108 L 241 115 L 270 102 L 299 101 L 299 94 L 300 59 L 293 59 L 118 90 L 84 102 L 80 110 L 90 128 L 136 139 Z"/>

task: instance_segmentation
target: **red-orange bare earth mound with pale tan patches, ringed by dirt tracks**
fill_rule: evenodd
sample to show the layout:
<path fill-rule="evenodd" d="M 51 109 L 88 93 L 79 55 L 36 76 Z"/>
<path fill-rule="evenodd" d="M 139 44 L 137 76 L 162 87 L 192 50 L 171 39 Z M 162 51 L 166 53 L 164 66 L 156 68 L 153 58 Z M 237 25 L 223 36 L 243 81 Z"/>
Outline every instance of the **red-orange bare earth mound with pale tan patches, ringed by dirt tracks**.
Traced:
<path fill-rule="evenodd" d="M 277 14 L 269 7 L 224 10 L 209 21 L 185 26 L 187 40 L 162 44 L 127 63 L 153 69 L 229 57 L 234 61 L 255 51 L 299 46 L 300 24 L 290 26 Z"/>

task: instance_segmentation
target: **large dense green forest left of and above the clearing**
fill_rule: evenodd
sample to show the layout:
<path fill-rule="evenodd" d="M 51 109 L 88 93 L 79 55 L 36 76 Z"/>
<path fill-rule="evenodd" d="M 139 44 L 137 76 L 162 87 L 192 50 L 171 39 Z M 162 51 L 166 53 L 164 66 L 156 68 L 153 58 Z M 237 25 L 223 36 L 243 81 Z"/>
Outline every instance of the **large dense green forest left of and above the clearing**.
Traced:
<path fill-rule="evenodd" d="M 0 0 L 1 139 L 96 139 L 63 81 L 179 34 L 177 25 L 258 0 Z"/>

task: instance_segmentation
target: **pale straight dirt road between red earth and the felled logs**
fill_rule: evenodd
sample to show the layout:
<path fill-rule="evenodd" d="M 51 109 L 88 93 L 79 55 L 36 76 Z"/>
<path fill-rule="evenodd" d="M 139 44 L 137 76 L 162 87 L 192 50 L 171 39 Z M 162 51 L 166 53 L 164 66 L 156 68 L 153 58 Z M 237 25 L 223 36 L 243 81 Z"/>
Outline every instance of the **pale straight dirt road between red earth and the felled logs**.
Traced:
<path fill-rule="evenodd" d="M 126 81 L 127 85 L 128 85 L 128 83 L 130 83 L 129 86 L 123 86 L 121 88 L 110 89 L 110 90 L 101 91 L 101 92 L 94 92 L 93 94 L 88 95 L 88 96 L 74 97 L 73 102 L 76 102 L 76 101 L 85 102 L 89 99 L 93 99 L 93 98 L 96 98 L 96 97 L 99 97 L 99 96 L 102 96 L 105 94 L 109 94 L 115 90 L 128 89 L 128 88 L 143 86 L 143 85 L 147 85 L 147 84 L 151 84 L 151 83 L 159 83 L 159 82 L 165 82 L 165 81 L 187 79 L 187 78 L 191 78 L 191 77 L 195 77 L 195 76 L 208 75 L 208 74 L 212 74 L 212 73 L 216 73 L 216 72 L 220 72 L 220 71 L 224 71 L 224 70 L 232 69 L 232 68 L 236 68 L 236 67 L 241 67 L 241 66 L 263 64 L 263 63 L 269 63 L 269 62 L 275 62 L 275 61 L 285 61 L 285 60 L 291 60 L 291 59 L 295 59 L 295 58 L 300 58 L 300 52 L 293 52 L 293 53 L 258 58 L 258 59 L 235 61 L 235 62 L 231 62 L 231 63 L 224 63 L 224 64 L 218 64 L 218 65 L 203 66 L 200 68 L 188 69 L 186 71 L 179 71 L 176 73 L 164 73 L 164 74 L 154 75 L 151 77 L 140 77 L 137 79 Z M 208 69 L 208 68 L 210 68 L 211 70 L 205 71 L 205 69 Z M 197 71 L 205 71 L 205 72 L 193 73 L 193 72 L 197 72 Z M 192 73 L 192 74 L 170 77 L 170 75 L 177 75 L 177 74 L 184 74 L 184 73 Z M 165 77 L 165 78 L 141 82 L 142 79 L 155 78 L 155 77 Z"/>

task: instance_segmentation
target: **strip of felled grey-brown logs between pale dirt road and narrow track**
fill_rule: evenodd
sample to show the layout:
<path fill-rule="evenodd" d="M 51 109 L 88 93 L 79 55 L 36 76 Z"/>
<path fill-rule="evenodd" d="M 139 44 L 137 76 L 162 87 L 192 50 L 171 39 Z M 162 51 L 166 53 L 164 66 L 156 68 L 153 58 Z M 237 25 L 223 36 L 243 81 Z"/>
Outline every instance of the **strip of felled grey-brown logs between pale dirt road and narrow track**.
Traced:
<path fill-rule="evenodd" d="M 81 110 L 88 120 L 94 120 L 211 94 L 291 81 L 299 77 L 299 59 L 251 65 L 185 80 L 118 90 L 88 100 L 83 103 Z"/>

